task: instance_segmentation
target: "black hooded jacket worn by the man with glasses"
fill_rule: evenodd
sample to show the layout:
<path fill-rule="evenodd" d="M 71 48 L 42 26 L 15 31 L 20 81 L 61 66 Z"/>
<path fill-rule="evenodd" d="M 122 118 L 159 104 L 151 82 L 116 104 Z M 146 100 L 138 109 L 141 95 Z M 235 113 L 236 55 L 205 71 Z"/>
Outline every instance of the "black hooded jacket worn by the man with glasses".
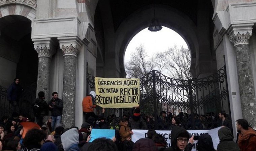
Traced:
<path fill-rule="evenodd" d="M 177 147 L 177 139 L 178 136 L 184 132 L 184 128 L 182 127 L 173 127 L 171 130 L 171 147 L 166 148 L 164 151 L 181 151 Z M 186 130 L 185 130 L 186 131 Z M 187 147 L 185 148 L 185 151 L 191 151 L 193 147 L 193 144 L 188 143 Z"/>

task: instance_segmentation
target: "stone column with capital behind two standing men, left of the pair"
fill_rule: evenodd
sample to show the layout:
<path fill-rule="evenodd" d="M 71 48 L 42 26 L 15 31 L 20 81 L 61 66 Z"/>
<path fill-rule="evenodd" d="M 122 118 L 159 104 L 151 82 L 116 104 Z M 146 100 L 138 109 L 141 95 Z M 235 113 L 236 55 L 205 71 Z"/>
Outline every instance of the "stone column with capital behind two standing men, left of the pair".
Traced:
<path fill-rule="evenodd" d="M 50 88 L 50 65 L 51 58 L 54 54 L 52 49 L 53 41 L 50 38 L 44 40 L 33 40 L 35 51 L 38 53 L 38 73 L 37 73 L 37 88 L 36 97 L 38 92 L 43 91 L 45 93 L 45 101 L 49 100 L 49 88 Z"/>

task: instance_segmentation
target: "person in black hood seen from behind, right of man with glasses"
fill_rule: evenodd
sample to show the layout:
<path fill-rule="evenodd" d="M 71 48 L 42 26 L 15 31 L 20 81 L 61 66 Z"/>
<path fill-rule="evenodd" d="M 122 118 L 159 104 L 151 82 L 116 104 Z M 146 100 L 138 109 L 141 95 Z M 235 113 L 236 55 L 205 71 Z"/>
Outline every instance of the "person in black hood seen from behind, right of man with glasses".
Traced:
<path fill-rule="evenodd" d="M 209 134 L 200 135 L 197 142 L 197 151 L 215 151 L 213 147 L 213 139 Z"/>

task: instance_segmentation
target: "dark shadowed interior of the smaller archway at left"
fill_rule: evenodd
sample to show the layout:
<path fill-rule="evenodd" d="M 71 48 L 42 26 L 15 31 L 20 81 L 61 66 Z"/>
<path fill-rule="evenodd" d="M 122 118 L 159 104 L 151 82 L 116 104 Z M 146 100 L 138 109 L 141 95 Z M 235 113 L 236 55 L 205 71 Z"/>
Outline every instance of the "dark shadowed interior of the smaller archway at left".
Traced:
<path fill-rule="evenodd" d="M 0 85 L 15 77 L 25 89 L 37 81 L 38 58 L 31 40 L 31 20 L 20 15 L 0 18 Z"/>

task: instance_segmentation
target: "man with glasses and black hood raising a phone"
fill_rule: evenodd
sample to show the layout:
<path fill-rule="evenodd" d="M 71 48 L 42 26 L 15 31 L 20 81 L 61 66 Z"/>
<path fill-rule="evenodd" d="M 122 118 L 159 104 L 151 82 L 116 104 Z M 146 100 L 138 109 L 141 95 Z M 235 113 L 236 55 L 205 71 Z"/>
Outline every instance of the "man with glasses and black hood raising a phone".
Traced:
<path fill-rule="evenodd" d="M 189 136 L 188 131 L 182 127 L 173 127 L 171 131 L 171 147 L 164 151 L 191 151 L 194 137 Z"/>

